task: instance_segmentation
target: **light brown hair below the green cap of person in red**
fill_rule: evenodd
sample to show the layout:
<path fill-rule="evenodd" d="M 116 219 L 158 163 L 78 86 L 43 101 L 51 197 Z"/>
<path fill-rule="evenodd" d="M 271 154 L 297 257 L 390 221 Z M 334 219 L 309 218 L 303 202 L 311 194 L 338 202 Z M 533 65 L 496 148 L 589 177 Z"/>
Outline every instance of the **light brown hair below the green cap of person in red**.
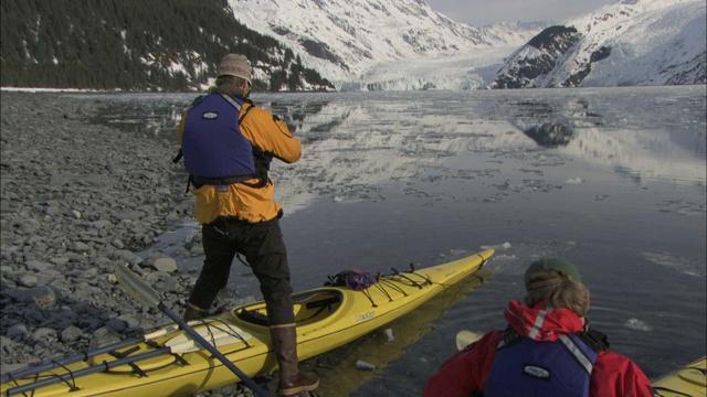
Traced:
<path fill-rule="evenodd" d="M 530 275 L 525 302 L 530 308 L 546 302 L 549 307 L 569 309 L 584 316 L 589 310 L 589 290 L 557 270 L 539 270 Z"/>

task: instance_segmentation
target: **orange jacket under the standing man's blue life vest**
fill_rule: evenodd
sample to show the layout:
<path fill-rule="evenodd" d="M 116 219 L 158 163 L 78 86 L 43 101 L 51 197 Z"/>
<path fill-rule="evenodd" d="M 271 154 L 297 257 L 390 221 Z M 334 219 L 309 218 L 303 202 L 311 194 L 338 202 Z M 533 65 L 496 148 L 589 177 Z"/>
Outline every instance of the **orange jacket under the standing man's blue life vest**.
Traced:
<path fill-rule="evenodd" d="M 177 142 L 180 144 L 188 112 L 189 109 L 182 112 L 177 129 Z M 241 107 L 239 117 L 243 117 L 246 112 L 240 127 L 243 136 L 253 146 L 260 147 L 286 163 L 299 160 L 302 155 L 299 140 L 292 135 L 283 120 L 247 101 Z M 257 179 L 246 182 L 255 183 Z M 219 192 L 219 186 L 204 184 L 191 191 L 197 197 L 197 221 L 202 224 L 209 224 L 220 216 L 238 217 L 250 223 L 273 219 L 282 210 L 282 206 L 273 200 L 274 192 L 275 185 L 272 181 L 263 187 L 234 183 L 228 185 L 225 192 Z"/>

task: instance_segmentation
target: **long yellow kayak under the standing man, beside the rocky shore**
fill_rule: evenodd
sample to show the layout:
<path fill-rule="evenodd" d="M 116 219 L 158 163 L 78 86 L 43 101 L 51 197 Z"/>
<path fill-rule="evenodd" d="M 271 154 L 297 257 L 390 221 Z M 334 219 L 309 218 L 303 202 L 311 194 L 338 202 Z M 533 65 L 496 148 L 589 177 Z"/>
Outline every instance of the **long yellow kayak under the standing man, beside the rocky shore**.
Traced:
<path fill-rule="evenodd" d="M 466 280 L 488 249 L 449 264 L 381 276 L 362 291 L 321 287 L 293 294 L 304 361 L 370 333 Z M 189 324 L 249 377 L 277 367 L 264 302 Z M 2 375 L 2 396 L 189 396 L 240 382 L 177 325 L 34 368 Z"/>

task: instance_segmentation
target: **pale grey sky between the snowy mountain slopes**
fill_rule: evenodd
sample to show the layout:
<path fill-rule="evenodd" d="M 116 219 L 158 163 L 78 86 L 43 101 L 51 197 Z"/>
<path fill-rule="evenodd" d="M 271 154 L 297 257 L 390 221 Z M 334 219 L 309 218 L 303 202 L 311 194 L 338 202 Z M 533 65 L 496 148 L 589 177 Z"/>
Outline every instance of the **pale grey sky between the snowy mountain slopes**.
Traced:
<path fill-rule="evenodd" d="M 594 11 L 618 0 L 425 0 L 447 18 L 483 26 L 496 22 L 561 22 Z"/>

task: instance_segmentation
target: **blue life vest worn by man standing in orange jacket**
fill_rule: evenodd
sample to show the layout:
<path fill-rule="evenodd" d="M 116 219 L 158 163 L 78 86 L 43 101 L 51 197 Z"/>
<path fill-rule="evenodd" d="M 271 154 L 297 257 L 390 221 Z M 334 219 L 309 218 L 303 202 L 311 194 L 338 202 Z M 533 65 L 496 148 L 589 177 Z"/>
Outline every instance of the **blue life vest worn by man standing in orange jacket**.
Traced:
<path fill-rule="evenodd" d="M 181 151 L 194 181 L 223 179 L 230 184 L 255 176 L 253 144 L 240 128 L 241 106 L 242 99 L 211 94 L 189 109 Z"/>

